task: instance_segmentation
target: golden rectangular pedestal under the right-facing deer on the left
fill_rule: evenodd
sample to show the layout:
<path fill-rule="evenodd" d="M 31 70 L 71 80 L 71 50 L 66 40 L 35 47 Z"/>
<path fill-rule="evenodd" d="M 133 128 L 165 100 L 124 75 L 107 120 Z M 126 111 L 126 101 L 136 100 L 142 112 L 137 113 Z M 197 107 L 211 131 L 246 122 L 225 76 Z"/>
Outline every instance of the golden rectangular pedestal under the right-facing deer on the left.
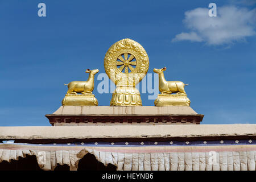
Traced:
<path fill-rule="evenodd" d="M 66 94 L 62 100 L 63 106 L 97 106 L 94 94 Z"/>

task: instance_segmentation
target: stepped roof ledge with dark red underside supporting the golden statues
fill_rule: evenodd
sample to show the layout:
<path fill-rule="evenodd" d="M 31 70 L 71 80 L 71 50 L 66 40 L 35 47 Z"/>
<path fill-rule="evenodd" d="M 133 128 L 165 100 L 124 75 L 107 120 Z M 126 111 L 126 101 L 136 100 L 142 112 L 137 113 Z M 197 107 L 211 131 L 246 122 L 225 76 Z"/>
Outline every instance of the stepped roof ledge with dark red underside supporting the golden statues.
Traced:
<path fill-rule="evenodd" d="M 189 106 L 60 106 L 46 114 L 52 126 L 200 124 L 203 114 Z"/>

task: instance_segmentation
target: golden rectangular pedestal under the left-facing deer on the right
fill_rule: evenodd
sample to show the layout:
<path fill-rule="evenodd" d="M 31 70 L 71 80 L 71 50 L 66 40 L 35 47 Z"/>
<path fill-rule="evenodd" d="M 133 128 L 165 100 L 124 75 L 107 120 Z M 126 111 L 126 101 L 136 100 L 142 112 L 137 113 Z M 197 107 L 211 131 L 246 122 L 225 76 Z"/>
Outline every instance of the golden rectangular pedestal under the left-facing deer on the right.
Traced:
<path fill-rule="evenodd" d="M 186 94 L 158 94 L 154 104 L 155 106 L 190 106 L 190 100 Z"/>

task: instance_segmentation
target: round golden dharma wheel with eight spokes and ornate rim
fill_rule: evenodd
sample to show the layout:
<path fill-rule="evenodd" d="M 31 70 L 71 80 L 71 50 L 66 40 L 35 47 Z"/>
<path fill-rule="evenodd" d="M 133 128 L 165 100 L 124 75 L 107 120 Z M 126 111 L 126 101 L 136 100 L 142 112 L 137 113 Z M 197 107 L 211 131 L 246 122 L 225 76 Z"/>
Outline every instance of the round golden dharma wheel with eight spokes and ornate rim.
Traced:
<path fill-rule="evenodd" d="M 149 61 L 147 52 L 131 39 L 114 43 L 104 58 L 105 72 L 118 86 L 135 86 L 146 76 Z"/>

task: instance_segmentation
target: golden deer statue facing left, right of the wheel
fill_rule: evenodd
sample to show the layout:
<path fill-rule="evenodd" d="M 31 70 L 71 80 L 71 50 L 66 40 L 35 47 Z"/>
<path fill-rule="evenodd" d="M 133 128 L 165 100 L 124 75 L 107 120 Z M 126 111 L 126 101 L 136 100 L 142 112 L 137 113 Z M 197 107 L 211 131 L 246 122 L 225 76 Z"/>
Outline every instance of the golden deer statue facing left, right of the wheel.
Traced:
<path fill-rule="evenodd" d="M 186 94 L 184 90 L 184 86 L 188 84 L 184 84 L 181 81 L 166 81 L 164 78 L 164 71 L 166 71 L 166 67 L 161 69 L 153 69 L 155 73 L 158 73 L 159 77 L 159 91 L 161 94 Z"/>

